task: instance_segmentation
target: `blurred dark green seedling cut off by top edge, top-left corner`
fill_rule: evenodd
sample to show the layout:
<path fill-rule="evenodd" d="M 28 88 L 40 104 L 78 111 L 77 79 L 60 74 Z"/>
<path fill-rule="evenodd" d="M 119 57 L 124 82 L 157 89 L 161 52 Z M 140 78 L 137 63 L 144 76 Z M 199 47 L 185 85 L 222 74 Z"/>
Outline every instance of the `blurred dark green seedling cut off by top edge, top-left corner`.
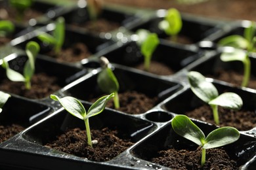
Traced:
<path fill-rule="evenodd" d="M 10 6 L 16 9 L 16 11 L 18 12 L 18 20 L 21 20 L 23 18 L 25 10 L 30 9 L 32 3 L 33 0 L 9 0 Z"/>

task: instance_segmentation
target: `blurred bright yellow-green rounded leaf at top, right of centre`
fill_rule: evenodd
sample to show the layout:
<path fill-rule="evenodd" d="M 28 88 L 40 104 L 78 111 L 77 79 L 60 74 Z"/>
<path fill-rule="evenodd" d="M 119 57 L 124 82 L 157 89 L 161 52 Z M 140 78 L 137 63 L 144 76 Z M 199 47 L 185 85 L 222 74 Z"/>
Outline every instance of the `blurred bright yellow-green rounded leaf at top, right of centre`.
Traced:
<path fill-rule="evenodd" d="M 182 28 L 182 19 L 179 10 L 169 9 L 165 16 L 165 20 L 168 22 L 168 27 L 165 26 L 165 33 L 167 35 L 177 35 Z"/>

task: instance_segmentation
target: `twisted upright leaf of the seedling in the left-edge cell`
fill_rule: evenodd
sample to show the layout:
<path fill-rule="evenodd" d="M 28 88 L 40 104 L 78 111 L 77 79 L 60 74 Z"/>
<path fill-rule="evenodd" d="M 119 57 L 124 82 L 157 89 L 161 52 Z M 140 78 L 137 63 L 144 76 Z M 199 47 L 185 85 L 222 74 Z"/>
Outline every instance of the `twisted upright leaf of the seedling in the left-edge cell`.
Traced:
<path fill-rule="evenodd" d="M 26 61 L 24 66 L 24 77 L 26 80 L 30 81 L 35 72 L 35 58 L 39 52 L 40 46 L 35 41 L 30 41 L 26 44 L 26 54 L 28 56 L 28 61 Z"/>

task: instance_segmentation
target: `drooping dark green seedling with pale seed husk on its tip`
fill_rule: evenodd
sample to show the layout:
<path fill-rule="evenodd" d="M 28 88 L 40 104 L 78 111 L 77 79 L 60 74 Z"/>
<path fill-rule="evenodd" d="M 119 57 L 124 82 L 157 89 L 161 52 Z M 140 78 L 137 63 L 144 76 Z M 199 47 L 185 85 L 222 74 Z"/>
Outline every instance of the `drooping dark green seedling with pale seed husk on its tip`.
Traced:
<path fill-rule="evenodd" d="M 112 69 L 110 68 L 110 64 L 108 59 L 105 57 L 101 57 L 100 61 L 102 63 L 102 71 L 98 74 L 97 83 L 104 93 L 114 93 L 114 107 L 115 109 L 119 109 L 119 83 L 117 81 L 116 76 L 114 75 Z"/>

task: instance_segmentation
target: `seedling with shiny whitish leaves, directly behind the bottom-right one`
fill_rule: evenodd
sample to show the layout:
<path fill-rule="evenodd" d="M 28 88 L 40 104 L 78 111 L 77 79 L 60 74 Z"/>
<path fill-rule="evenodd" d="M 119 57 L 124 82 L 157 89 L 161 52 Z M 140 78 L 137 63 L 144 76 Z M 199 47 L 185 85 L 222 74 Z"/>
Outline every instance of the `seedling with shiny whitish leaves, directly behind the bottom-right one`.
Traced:
<path fill-rule="evenodd" d="M 215 86 L 211 82 L 207 82 L 201 73 L 190 71 L 188 73 L 188 82 L 192 92 L 211 106 L 213 118 L 217 125 L 219 125 L 218 106 L 238 110 L 243 105 L 241 97 L 236 93 L 226 92 L 219 95 Z"/>

